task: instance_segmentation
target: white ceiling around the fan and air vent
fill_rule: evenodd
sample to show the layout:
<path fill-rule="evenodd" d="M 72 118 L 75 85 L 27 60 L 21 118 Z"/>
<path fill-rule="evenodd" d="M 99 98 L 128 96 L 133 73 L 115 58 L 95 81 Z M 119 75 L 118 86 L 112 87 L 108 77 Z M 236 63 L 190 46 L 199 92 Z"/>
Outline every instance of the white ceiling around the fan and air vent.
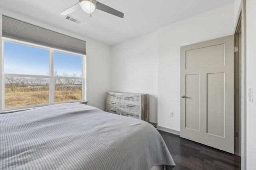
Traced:
<path fill-rule="evenodd" d="M 59 15 L 77 2 L 78 0 L 0 0 L 0 8 L 107 45 L 116 45 L 234 0 L 99 0 L 102 4 L 123 12 L 124 18 L 100 10 L 95 10 L 90 18 L 90 14 L 80 9 L 70 14 L 83 21 L 76 24 Z"/>

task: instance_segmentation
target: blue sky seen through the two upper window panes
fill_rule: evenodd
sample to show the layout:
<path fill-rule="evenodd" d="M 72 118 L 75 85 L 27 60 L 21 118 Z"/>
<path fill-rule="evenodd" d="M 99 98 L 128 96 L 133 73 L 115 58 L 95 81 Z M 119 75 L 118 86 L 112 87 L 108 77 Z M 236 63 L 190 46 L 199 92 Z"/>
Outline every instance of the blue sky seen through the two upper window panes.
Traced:
<path fill-rule="evenodd" d="M 4 73 L 49 74 L 50 51 L 16 43 L 4 42 Z M 82 57 L 54 52 L 54 71 L 62 74 L 82 74 Z"/>

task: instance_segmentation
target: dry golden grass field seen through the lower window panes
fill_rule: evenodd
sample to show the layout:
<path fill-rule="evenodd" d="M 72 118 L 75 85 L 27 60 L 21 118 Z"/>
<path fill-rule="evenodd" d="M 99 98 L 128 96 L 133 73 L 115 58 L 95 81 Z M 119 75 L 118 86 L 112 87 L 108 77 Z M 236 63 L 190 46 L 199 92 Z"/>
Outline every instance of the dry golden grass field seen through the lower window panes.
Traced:
<path fill-rule="evenodd" d="M 13 91 L 6 88 L 5 107 L 29 106 L 49 103 L 48 88 L 38 88 L 32 91 L 26 88 L 16 88 Z M 82 100 L 82 90 L 74 88 L 70 90 L 55 90 L 55 102 Z"/>

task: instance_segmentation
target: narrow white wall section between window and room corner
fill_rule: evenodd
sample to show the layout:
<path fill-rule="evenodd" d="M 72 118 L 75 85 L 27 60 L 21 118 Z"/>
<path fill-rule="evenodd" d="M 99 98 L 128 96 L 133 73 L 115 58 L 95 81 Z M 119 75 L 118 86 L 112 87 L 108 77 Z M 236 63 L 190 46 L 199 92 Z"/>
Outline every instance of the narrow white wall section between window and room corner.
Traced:
<path fill-rule="evenodd" d="M 97 41 L 86 41 L 88 105 L 106 110 L 106 92 L 110 91 L 111 48 Z"/>

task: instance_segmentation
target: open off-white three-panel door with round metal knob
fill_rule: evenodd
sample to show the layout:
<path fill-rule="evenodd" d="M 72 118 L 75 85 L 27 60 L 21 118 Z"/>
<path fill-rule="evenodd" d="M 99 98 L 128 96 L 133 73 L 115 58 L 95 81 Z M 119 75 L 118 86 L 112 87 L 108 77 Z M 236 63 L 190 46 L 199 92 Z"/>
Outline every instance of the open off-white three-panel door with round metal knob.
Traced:
<path fill-rule="evenodd" d="M 234 36 L 180 47 L 180 137 L 234 153 Z"/>

